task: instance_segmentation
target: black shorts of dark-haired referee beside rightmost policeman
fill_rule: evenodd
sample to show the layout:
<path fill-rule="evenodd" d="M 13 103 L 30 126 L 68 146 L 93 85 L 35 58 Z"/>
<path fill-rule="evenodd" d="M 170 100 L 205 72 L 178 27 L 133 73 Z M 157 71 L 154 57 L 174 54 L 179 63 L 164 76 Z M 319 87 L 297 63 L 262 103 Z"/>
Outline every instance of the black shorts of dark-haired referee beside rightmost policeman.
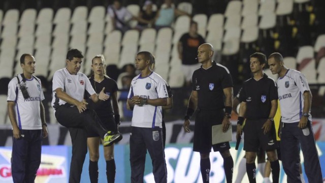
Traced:
<path fill-rule="evenodd" d="M 246 119 L 243 129 L 244 132 L 244 150 L 256 152 L 259 147 L 265 151 L 277 148 L 275 127 L 272 124 L 271 130 L 264 134 L 262 129 L 267 119 Z"/>

